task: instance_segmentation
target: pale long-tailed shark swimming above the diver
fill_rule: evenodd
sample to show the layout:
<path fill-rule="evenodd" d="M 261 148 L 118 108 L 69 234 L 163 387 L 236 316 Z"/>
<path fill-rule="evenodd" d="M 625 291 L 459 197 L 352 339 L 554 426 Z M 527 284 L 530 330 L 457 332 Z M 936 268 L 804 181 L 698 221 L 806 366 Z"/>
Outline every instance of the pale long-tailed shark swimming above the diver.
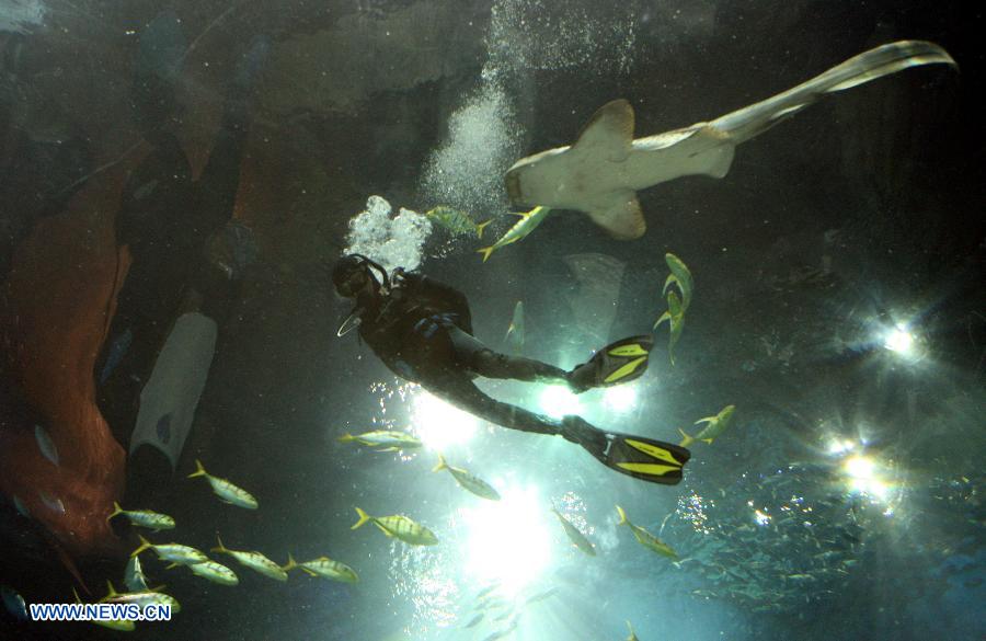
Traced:
<path fill-rule="evenodd" d="M 514 163 L 505 175 L 511 205 L 583 211 L 618 240 L 646 231 L 637 192 L 686 175 L 723 178 L 736 146 L 793 116 L 829 93 L 897 71 L 955 60 L 939 45 L 898 41 L 870 49 L 793 89 L 690 127 L 633 138 L 627 100 L 603 105 L 574 145 Z"/>

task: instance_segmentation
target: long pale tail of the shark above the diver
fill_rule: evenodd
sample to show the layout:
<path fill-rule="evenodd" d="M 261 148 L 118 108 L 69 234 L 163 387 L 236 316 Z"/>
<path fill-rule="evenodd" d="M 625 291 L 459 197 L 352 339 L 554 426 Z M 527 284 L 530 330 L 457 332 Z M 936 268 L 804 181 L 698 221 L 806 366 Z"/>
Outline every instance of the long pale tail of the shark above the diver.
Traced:
<path fill-rule="evenodd" d="M 827 93 L 844 91 L 908 67 L 944 64 L 955 60 L 940 46 L 925 41 L 890 43 L 849 58 L 821 76 L 793 89 L 726 114 L 709 123 L 725 134 L 734 145 L 763 134 L 773 125 L 813 104 Z"/>

